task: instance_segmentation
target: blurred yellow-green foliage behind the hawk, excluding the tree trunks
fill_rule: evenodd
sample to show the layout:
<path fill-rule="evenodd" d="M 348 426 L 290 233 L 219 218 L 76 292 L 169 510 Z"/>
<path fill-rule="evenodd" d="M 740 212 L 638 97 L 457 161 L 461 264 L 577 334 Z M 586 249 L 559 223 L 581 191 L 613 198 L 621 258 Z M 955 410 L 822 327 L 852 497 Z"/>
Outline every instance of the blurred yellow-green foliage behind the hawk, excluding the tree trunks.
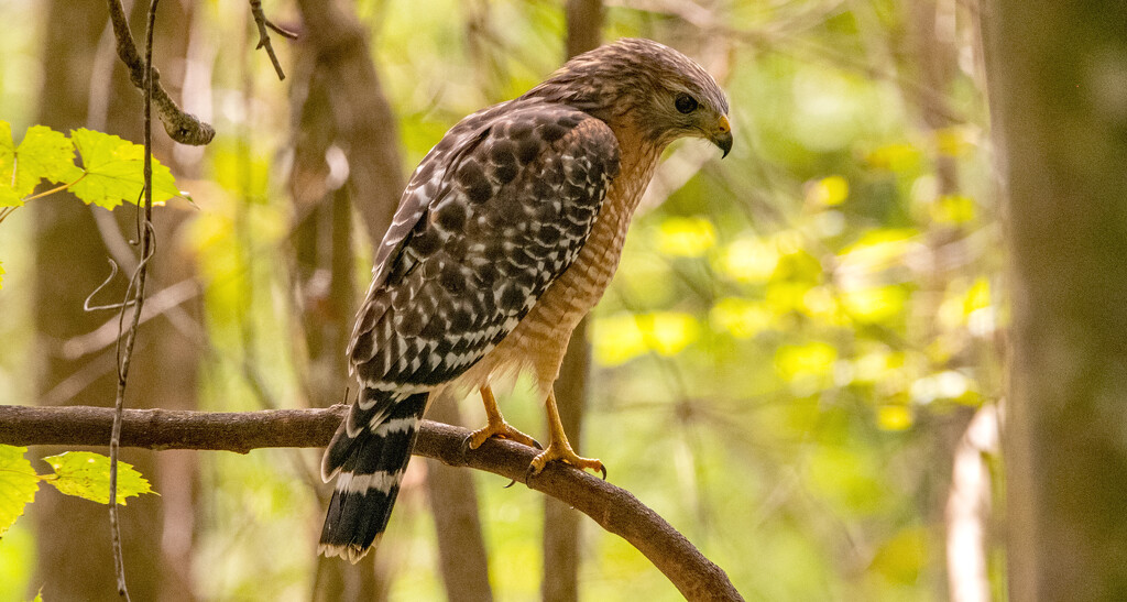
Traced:
<path fill-rule="evenodd" d="M 205 149 L 170 151 L 195 206 L 178 209 L 185 230 L 161 249 L 181 247 L 195 263 L 206 340 L 198 405 L 337 402 L 343 373 L 331 375 L 340 397 L 309 399 L 294 310 L 308 291 L 295 292 L 286 259 L 291 80 L 278 82 L 254 52 L 245 2 L 196 5 L 188 60 L 157 62 L 165 79 L 185 80 L 185 105 L 219 131 Z M 301 28 L 290 2 L 265 8 Z M 407 168 L 459 118 L 521 94 L 564 56 L 560 1 L 360 0 L 355 9 Z M 593 316 L 583 451 L 748 599 L 947 597 L 952 455 L 975 410 L 999 397 L 1005 321 L 976 19 L 975 2 L 956 0 L 607 2 L 604 39 L 655 38 L 717 77 L 736 144 L 720 161 L 704 143 L 682 142 L 659 168 Z M 23 24 L 0 36 L 0 118 L 18 138 L 68 73 L 44 71 L 44 5 L 0 0 L 0 20 Z M 274 45 L 291 65 L 292 46 L 277 36 Z M 0 229 L 6 404 L 33 402 L 27 375 L 41 370 L 25 352 L 37 336 L 33 227 L 21 210 Z M 356 296 L 371 248 L 355 238 Z M 523 379 L 502 406 L 543 434 Z M 462 409 L 468 424 L 481 419 L 476 398 Z M 198 454 L 194 597 L 309 597 L 323 512 L 310 486 L 318 455 Z M 414 462 L 379 550 L 391 600 L 444 595 L 424 478 Z M 473 478 L 494 595 L 539 597 L 540 494 Z M 34 525 L 23 520 L 0 541 L 0 600 L 55 578 L 36 576 Z M 584 600 L 678 599 L 640 554 L 589 522 L 580 550 Z M 996 574 L 996 550 L 988 557 Z"/>

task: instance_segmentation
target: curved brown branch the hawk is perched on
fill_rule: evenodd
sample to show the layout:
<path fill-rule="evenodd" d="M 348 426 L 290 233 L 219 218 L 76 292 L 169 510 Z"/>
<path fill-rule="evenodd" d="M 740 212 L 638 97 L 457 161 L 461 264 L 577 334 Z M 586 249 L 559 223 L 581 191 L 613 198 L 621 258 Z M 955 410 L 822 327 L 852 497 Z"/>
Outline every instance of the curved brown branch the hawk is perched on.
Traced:
<path fill-rule="evenodd" d="M 242 413 L 126 409 L 121 444 L 240 453 L 257 448 L 319 448 L 329 442 L 346 413 L 345 405 Z M 0 443 L 104 445 L 113 420 L 113 408 L 0 406 Z M 423 420 L 415 453 L 525 481 L 535 450 L 499 440 L 463 450 L 468 434 L 464 428 Z M 525 485 L 574 506 L 629 541 L 686 599 L 743 600 L 724 569 L 629 492 L 557 462 Z"/>

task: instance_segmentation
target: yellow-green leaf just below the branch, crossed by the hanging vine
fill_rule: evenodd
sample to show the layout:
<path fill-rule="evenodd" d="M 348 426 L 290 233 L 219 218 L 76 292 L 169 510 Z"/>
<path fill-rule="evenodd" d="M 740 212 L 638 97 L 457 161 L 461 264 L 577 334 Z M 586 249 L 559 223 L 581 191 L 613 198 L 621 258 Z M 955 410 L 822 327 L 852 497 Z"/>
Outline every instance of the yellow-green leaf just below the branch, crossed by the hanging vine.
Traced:
<path fill-rule="evenodd" d="M 43 459 L 55 470 L 47 483 L 66 494 L 90 499 L 99 504 L 109 503 L 109 458 L 94 452 L 66 452 Z M 141 494 L 152 494 L 149 481 L 131 464 L 117 462 L 117 503 L 125 505 L 125 498 Z"/>

